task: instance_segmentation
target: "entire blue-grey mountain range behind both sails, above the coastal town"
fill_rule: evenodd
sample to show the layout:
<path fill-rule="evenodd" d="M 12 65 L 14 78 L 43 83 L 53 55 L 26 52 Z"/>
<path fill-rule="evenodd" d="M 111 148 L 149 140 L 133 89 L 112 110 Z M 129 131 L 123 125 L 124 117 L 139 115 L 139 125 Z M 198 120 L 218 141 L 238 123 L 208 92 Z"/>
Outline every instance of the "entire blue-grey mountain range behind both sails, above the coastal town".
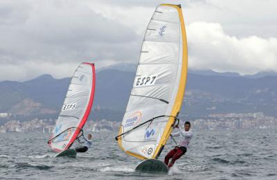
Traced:
<path fill-rule="evenodd" d="M 121 120 L 134 71 L 103 69 L 96 74 L 96 93 L 91 118 Z M 181 115 L 264 112 L 277 116 L 277 76 L 244 78 L 235 74 L 188 73 Z M 41 75 L 27 82 L 0 82 L 0 112 L 22 117 L 56 118 L 70 78 Z"/>

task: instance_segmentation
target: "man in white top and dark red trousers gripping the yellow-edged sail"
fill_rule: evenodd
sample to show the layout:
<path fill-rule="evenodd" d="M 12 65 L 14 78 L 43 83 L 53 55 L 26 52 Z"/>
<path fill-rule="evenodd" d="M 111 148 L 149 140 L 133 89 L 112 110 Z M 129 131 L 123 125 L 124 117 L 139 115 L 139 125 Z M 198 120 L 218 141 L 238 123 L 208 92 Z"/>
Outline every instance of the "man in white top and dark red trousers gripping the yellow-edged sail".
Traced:
<path fill-rule="evenodd" d="M 179 145 L 177 145 L 174 149 L 170 150 L 170 152 L 168 152 L 168 154 L 165 157 L 164 163 L 168 165 L 168 168 L 172 167 L 175 161 L 186 153 L 188 144 L 190 143 L 191 138 L 193 138 L 193 132 L 190 131 L 190 122 L 187 121 L 185 123 L 184 125 L 185 131 L 182 131 L 181 129 L 179 129 L 178 126 L 176 127 L 179 130 L 179 132 L 172 133 L 171 136 L 182 136 L 182 138 L 179 141 Z M 171 159 L 170 163 L 169 163 L 169 159 Z"/>

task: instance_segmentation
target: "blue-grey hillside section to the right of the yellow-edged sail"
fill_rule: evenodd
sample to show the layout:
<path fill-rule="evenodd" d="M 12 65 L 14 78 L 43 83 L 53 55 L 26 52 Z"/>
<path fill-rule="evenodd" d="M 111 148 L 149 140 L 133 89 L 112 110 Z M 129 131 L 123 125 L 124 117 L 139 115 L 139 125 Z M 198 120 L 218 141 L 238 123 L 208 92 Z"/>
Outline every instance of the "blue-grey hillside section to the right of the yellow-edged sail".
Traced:
<path fill-rule="evenodd" d="M 277 116 L 277 76 L 264 78 L 188 74 L 184 113 L 206 116 L 213 113 L 262 111 Z"/>

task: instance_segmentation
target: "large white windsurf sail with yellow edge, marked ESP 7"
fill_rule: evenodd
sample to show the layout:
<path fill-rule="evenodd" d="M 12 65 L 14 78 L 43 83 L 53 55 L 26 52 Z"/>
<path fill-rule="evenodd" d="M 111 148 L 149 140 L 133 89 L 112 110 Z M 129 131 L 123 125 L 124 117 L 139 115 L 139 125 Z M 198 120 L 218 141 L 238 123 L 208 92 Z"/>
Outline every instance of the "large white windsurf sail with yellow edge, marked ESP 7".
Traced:
<path fill-rule="evenodd" d="M 188 66 L 180 5 L 157 6 L 143 39 L 133 89 L 116 140 L 139 159 L 154 159 L 177 122 Z"/>

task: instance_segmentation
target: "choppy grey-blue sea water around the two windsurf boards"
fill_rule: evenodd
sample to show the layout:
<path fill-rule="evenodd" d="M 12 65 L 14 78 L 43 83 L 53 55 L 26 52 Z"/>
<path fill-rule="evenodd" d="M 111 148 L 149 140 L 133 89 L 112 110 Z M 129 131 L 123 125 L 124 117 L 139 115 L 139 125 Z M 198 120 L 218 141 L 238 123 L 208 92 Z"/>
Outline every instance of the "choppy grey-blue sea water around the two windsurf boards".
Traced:
<path fill-rule="evenodd" d="M 49 134 L 0 136 L 0 179 L 277 179 L 275 129 L 194 131 L 188 152 L 168 175 L 134 172 L 139 160 L 119 149 L 116 132 L 93 133 L 93 147 L 76 159 L 54 158 Z"/>

